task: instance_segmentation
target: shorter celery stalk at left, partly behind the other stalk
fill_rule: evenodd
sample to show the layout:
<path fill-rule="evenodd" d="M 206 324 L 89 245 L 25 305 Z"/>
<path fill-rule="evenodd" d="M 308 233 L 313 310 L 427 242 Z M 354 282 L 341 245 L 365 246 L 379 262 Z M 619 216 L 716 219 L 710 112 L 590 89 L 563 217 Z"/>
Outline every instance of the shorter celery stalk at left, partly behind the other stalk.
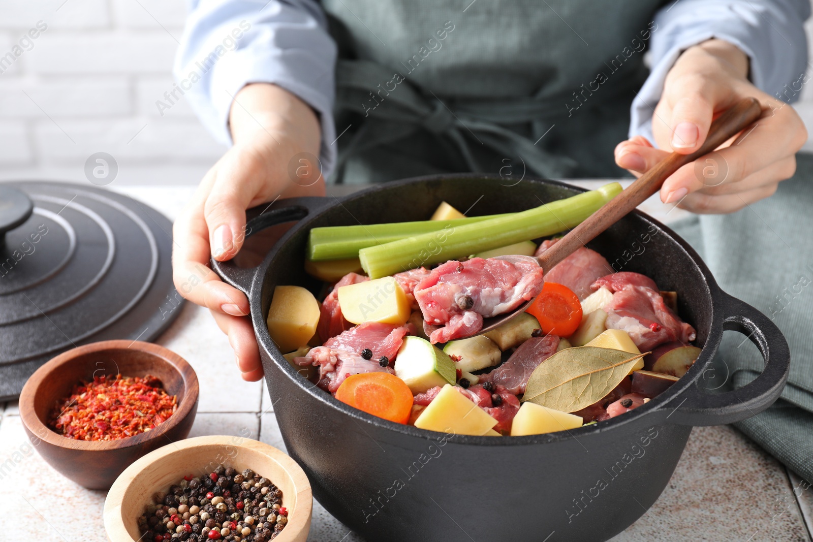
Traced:
<path fill-rule="evenodd" d="M 451 220 L 420 220 L 415 222 L 313 228 L 308 237 L 307 258 L 311 262 L 357 258 L 359 250 L 368 246 L 383 245 L 405 237 L 437 232 L 437 230 L 446 228 L 449 225 L 476 223 L 513 214 L 473 216 Z"/>

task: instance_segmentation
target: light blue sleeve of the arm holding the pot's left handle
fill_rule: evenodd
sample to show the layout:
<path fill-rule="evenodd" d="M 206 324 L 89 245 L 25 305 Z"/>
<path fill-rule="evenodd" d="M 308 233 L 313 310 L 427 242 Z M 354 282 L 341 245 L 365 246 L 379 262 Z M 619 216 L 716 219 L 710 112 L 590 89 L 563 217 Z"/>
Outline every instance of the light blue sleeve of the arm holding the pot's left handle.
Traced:
<path fill-rule="evenodd" d="M 336 163 L 336 44 L 314 0 L 189 0 L 174 72 L 206 128 L 229 145 L 228 112 L 249 83 L 273 83 L 320 116 L 325 178 Z M 235 106 L 239 106 L 239 103 Z"/>

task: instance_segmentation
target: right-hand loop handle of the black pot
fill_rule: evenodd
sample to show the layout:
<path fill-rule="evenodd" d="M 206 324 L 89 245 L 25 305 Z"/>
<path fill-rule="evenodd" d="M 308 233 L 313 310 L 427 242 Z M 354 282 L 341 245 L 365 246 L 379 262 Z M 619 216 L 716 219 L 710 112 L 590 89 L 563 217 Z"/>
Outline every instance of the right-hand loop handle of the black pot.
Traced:
<path fill-rule="evenodd" d="M 667 416 L 669 423 L 709 426 L 739 422 L 767 409 L 785 388 L 790 349 L 779 327 L 753 306 L 727 293 L 723 293 L 722 305 L 724 329 L 748 336 L 762 353 L 765 368 L 752 382 L 730 392 L 707 393 L 695 382 L 672 401 L 677 406 Z"/>

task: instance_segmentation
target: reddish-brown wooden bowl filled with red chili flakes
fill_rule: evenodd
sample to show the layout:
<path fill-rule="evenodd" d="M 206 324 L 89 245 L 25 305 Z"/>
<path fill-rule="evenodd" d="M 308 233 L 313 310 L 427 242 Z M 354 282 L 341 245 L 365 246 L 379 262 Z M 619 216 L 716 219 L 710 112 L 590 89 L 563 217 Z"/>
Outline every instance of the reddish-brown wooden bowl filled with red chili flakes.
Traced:
<path fill-rule="evenodd" d="M 139 457 L 185 439 L 197 410 L 198 377 L 189 363 L 138 340 L 61 353 L 20 394 L 20 418 L 37 452 L 89 489 L 110 488 Z"/>

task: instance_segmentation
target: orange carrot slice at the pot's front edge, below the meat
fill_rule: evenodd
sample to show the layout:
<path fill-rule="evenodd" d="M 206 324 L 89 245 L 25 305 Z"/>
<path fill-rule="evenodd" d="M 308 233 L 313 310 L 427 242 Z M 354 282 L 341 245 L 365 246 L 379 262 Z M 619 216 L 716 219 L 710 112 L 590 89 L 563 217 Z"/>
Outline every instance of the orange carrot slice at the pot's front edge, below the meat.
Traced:
<path fill-rule="evenodd" d="M 412 392 L 402 379 L 385 372 L 350 375 L 336 390 L 336 398 L 367 414 L 406 423 L 412 411 Z"/>

